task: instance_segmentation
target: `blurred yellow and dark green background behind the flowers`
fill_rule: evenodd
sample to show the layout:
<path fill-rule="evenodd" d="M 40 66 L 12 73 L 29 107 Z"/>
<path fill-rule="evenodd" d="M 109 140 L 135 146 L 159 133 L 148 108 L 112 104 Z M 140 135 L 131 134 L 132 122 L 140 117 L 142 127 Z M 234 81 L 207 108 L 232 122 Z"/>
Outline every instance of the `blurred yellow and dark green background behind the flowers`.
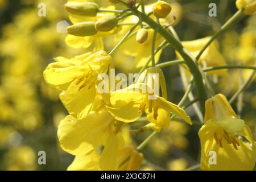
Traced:
<path fill-rule="evenodd" d="M 38 4 L 46 3 L 46 17 L 38 16 Z M 65 0 L 0 0 L 0 169 L 1 170 L 65 170 L 73 156 L 61 150 L 57 140 L 57 126 L 67 111 L 59 101 L 59 93 L 43 80 L 43 70 L 53 57 L 72 57 L 86 49 L 65 44 L 65 34 L 57 32 L 56 24 L 68 20 Z M 106 0 L 96 1 L 108 6 Z M 148 1 L 148 3 L 154 1 Z M 174 1 L 169 1 L 174 2 Z M 175 1 L 182 6 L 183 17 L 175 30 L 181 40 L 195 40 L 210 36 L 237 9 L 234 0 Z M 208 16 L 208 5 L 217 4 L 217 17 Z M 106 40 L 114 40 L 112 37 Z M 256 51 L 256 15 L 246 16 L 218 38 L 218 49 L 226 64 L 254 65 Z M 106 42 L 106 50 L 114 41 Z M 174 49 L 164 49 L 160 63 L 175 60 Z M 114 56 L 120 72 L 136 72 L 133 60 Z M 123 65 L 126 65 L 123 67 Z M 211 75 L 217 93 L 231 97 L 251 71 L 232 70 Z M 168 98 L 177 103 L 184 94 L 177 66 L 164 68 Z M 234 102 L 233 108 L 251 127 L 256 138 L 256 83 L 251 82 Z M 198 121 L 193 107 L 187 112 Z M 131 125 L 142 126 L 143 122 Z M 143 150 L 143 169 L 183 170 L 200 164 L 200 141 L 197 131 L 180 121 L 155 137 Z M 136 143 L 148 136 L 147 131 L 133 135 Z M 38 152 L 46 151 L 46 165 L 38 164 Z M 198 166 L 197 166 L 198 167 Z M 195 168 L 198 169 L 198 168 Z"/>

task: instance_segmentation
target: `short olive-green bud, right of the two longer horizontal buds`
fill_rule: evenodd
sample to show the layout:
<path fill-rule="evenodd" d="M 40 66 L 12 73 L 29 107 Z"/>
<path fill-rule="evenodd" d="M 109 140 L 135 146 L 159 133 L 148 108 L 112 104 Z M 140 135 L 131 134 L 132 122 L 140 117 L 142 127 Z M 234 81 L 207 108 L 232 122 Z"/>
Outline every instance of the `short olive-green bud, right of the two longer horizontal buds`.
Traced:
<path fill-rule="evenodd" d="M 117 16 L 105 16 L 97 20 L 95 23 L 95 28 L 97 31 L 108 32 L 113 30 L 113 28 L 117 26 L 117 23 Z"/>

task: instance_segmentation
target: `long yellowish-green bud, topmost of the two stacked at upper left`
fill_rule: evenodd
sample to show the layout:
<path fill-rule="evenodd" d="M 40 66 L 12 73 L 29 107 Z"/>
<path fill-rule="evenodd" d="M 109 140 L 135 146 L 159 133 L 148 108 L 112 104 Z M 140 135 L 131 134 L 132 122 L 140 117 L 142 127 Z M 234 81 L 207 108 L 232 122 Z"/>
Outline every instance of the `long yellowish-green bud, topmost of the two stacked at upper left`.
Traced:
<path fill-rule="evenodd" d="M 93 2 L 68 2 L 65 9 L 72 14 L 81 16 L 96 16 L 98 5 Z"/>

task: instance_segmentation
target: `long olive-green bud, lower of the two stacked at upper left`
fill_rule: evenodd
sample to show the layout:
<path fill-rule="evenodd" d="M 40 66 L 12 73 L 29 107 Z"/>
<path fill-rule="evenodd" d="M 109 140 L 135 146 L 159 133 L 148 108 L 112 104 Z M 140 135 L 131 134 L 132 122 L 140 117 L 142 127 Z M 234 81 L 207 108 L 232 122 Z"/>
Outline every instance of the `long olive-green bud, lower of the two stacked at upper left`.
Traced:
<path fill-rule="evenodd" d="M 97 34 L 94 22 L 81 22 L 67 28 L 68 34 L 75 36 L 91 36 Z"/>

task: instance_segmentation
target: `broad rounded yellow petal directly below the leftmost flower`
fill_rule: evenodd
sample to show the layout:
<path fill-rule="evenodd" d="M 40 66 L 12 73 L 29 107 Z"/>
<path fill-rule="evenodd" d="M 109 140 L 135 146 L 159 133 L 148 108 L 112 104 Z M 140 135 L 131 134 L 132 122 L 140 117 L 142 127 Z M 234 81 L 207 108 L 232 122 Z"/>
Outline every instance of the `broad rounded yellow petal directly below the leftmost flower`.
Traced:
<path fill-rule="evenodd" d="M 68 115 L 60 122 L 57 135 L 63 150 L 73 155 L 86 155 L 112 133 L 114 119 L 106 109 L 92 111 L 88 117 L 77 120 Z"/>

